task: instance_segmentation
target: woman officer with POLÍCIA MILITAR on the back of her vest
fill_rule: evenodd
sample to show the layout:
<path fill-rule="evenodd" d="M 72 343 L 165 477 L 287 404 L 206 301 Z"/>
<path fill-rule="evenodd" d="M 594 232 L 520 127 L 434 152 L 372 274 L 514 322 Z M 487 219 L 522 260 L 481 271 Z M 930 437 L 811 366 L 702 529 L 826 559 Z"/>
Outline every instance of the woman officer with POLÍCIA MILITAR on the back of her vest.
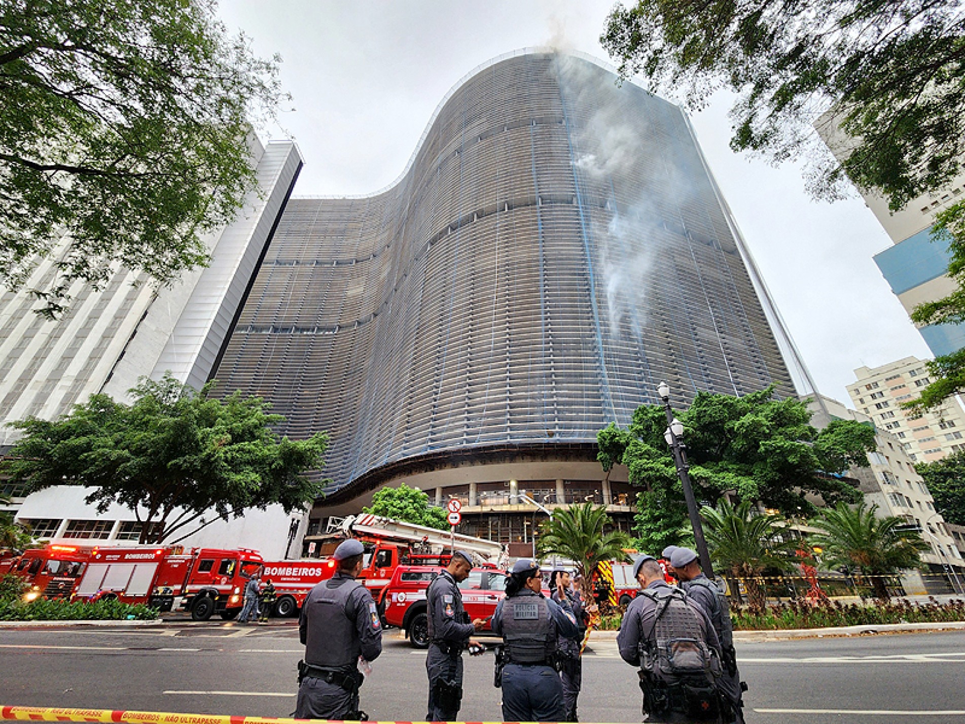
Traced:
<path fill-rule="evenodd" d="M 558 642 L 578 638 L 580 628 L 568 601 L 543 597 L 538 564 L 525 558 L 516 561 L 506 582 L 506 598 L 492 615 L 492 630 L 505 642 L 496 659 L 503 720 L 564 721 Z"/>

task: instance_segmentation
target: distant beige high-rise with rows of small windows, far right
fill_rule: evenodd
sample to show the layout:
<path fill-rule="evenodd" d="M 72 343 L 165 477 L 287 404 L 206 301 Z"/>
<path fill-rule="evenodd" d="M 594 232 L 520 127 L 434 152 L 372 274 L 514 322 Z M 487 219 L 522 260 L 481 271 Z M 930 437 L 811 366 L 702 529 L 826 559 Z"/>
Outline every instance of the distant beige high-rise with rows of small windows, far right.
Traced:
<path fill-rule="evenodd" d="M 876 427 L 894 434 L 913 461 L 934 462 L 965 450 L 965 410 L 957 398 L 920 414 L 901 408 L 931 381 L 922 360 L 905 357 L 873 369 L 859 367 L 854 374 L 858 379 L 847 388 L 851 402 Z"/>

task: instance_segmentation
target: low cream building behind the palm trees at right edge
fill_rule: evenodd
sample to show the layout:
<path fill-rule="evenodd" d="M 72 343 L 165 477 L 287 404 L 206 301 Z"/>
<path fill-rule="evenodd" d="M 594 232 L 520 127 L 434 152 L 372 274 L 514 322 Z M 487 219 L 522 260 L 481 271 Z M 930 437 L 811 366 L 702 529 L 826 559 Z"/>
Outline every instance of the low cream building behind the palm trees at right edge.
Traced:
<path fill-rule="evenodd" d="M 905 592 L 940 592 L 946 588 L 940 578 L 951 568 L 953 573 L 949 571 L 948 586 L 956 592 L 965 593 L 960 588 L 960 583 L 965 584 L 965 559 L 945 519 L 935 510 L 935 500 L 922 476 L 915 472 L 915 460 L 905 449 L 902 440 L 893 432 L 883 430 L 873 418 L 849 409 L 837 400 L 822 396 L 822 402 L 826 416 L 824 410 L 812 404 L 812 424 L 815 427 L 823 427 L 834 419 L 856 420 L 874 426 L 878 449 L 869 453 L 869 467 L 851 468 L 848 475 L 859 481 L 865 499 L 878 506 L 878 515 L 905 518 L 909 525 L 921 531 L 922 538 L 931 546 L 931 552 L 922 554 L 928 569 L 924 577 L 918 571 L 907 571 L 902 576 Z"/>

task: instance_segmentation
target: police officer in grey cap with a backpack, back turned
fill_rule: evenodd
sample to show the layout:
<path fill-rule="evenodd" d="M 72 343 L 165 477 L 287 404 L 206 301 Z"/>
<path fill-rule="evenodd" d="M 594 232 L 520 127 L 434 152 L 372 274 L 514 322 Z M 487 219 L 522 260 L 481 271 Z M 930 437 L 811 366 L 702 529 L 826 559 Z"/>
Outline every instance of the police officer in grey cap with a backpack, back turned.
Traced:
<path fill-rule="evenodd" d="M 646 721 L 721 724 L 720 644 L 703 608 L 667 584 L 653 556 L 638 558 L 633 575 L 643 591 L 623 615 L 617 646 L 640 667 Z"/>

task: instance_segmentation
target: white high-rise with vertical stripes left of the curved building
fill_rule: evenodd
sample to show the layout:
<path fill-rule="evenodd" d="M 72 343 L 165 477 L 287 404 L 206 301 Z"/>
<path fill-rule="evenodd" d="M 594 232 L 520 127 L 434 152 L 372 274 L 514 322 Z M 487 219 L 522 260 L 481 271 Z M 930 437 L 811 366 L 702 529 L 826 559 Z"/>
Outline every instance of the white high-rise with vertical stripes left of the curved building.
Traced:
<path fill-rule="evenodd" d="M 138 377 L 171 372 L 196 388 L 205 384 L 302 165 L 290 141 L 262 147 L 253 137 L 251 152 L 258 189 L 233 223 L 206 238 L 210 264 L 176 285 L 155 290 L 119 268 L 102 291 L 74 285 L 69 312 L 59 320 L 34 314 L 37 300 L 28 292 L 0 289 L 0 454 L 17 435 L 6 423 L 31 415 L 55 419 L 95 393 L 122 400 Z M 43 288 L 54 271 L 51 262 L 41 262 L 24 289 Z M 134 512 L 112 506 L 100 513 L 87 505 L 86 488 L 25 492 L 0 481 L 17 519 L 39 538 L 113 543 L 136 541 L 140 533 Z M 185 543 L 249 545 L 282 556 L 289 527 L 289 515 L 274 506 L 233 524 L 209 525 Z"/>

